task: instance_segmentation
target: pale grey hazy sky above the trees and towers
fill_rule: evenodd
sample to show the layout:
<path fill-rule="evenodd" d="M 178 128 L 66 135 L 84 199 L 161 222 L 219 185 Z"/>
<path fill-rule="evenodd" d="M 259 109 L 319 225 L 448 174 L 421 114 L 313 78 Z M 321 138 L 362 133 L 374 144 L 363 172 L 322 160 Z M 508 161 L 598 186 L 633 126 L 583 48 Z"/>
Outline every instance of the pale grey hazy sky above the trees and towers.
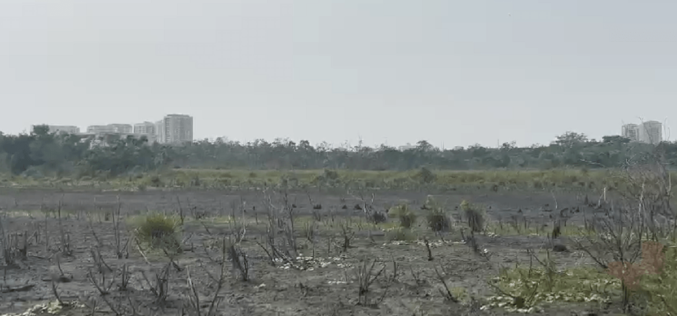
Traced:
<path fill-rule="evenodd" d="M 181 113 L 198 139 L 453 147 L 600 138 L 639 117 L 672 128 L 675 12 L 636 0 L 1 0 L 0 130 Z"/>

